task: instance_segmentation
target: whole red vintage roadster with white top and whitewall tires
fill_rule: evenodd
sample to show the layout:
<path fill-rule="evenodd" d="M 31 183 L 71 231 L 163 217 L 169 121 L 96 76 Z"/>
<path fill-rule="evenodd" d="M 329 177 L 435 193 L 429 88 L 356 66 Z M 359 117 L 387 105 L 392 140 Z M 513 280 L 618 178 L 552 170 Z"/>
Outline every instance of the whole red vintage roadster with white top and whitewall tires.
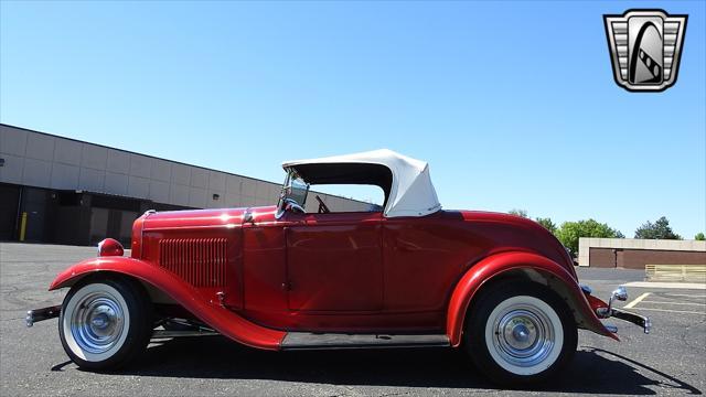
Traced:
<path fill-rule="evenodd" d="M 50 290 L 64 350 L 78 366 L 125 365 L 152 337 L 218 333 L 264 350 L 462 347 L 501 384 L 565 367 L 577 329 L 618 339 L 600 319 L 650 330 L 580 286 L 565 247 L 517 216 L 445 211 L 426 162 L 389 150 L 284 163 L 277 205 L 148 211 L 131 255 L 105 239 Z M 368 212 L 331 212 L 310 185 L 384 191 Z"/>

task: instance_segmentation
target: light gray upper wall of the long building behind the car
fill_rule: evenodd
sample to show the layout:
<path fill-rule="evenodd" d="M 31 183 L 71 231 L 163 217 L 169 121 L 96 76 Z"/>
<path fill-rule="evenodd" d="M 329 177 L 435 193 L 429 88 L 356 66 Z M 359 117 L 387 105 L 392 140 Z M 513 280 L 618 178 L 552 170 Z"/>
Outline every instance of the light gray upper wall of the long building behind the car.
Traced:
<path fill-rule="evenodd" d="M 281 183 L 0 125 L 0 182 L 88 191 L 195 208 L 271 205 Z M 282 173 L 284 180 L 284 173 Z M 320 194 L 332 211 L 367 203 Z M 217 198 L 215 198 L 217 197 Z M 307 211 L 318 204 L 311 195 Z"/>

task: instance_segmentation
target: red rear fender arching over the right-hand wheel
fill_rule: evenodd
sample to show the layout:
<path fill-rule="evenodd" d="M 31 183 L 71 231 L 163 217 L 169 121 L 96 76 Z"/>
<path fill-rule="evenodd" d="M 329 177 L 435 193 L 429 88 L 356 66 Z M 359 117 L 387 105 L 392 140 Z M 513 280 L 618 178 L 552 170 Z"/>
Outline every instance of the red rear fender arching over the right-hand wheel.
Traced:
<path fill-rule="evenodd" d="M 563 296 L 575 312 L 579 324 L 598 334 L 618 340 L 598 320 L 577 281 L 555 261 L 530 253 L 504 253 L 488 257 L 471 267 L 456 286 L 447 312 L 447 334 L 452 346 L 461 343 L 463 322 L 475 292 L 489 280 L 513 270 L 534 270 L 542 276 L 553 276 L 565 287 Z"/>

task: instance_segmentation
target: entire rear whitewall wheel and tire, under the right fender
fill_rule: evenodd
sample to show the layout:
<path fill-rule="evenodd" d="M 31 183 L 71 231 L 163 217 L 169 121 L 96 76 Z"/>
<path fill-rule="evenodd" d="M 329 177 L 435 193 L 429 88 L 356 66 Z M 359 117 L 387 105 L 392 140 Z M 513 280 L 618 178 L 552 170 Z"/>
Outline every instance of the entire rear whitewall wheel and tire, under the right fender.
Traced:
<path fill-rule="evenodd" d="M 475 366 L 504 386 L 543 382 L 576 352 L 577 328 L 567 304 L 546 287 L 505 281 L 481 291 L 466 323 L 464 345 Z"/>

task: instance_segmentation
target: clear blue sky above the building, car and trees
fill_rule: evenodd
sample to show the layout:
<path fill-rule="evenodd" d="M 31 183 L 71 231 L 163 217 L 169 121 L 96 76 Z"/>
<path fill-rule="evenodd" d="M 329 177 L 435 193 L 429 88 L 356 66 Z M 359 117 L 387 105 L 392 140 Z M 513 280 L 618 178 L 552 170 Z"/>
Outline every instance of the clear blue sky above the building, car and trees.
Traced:
<path fill-rule="evenodd" d="M 677 84 L 613 82 L 603 13 L 687 13 Z M 705 2 L 0 3 L 0 121 L 265 180 L 389 148 L 446 208 L 706 228 Z"/>

